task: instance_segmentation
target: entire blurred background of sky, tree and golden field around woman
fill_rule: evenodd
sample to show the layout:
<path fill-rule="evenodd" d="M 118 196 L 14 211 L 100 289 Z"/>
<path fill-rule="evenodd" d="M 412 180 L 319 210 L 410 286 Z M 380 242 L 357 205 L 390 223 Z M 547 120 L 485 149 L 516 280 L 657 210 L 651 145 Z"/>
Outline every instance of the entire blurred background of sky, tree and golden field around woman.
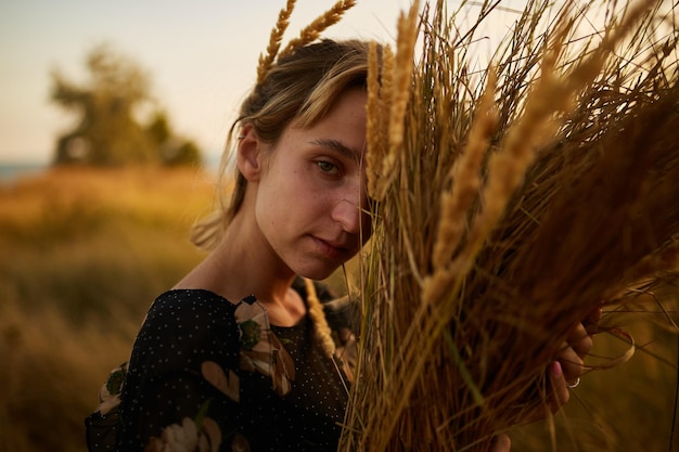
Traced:
<path fill-rule="evenodd" d="M 331 3 L 299 0 L 290 34 Z M 408 4 L 359 0 L 326 35 L 390 41 Z M 84 418 L 149 305 L 203 258 L 189 228 L 283 5 L 0 4 L 0 451 L 85 451 Z M 679 450 L 676 306 L 639 301 L 604 317 L 636 338 L 631 360 L 586 375 L 554 424 L 517 427 L 513 451 L 552 450 L 552 430 L 560 451 Z"/>

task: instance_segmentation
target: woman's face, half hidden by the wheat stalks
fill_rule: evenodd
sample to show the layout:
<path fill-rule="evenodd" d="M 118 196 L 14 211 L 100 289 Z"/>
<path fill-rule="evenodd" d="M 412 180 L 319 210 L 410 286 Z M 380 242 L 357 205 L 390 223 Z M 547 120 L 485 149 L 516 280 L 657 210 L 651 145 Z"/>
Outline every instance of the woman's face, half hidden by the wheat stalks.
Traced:
<path fill-rule="evenodd" d="M 366 100 L 347 90 L 310 128 L 289 126 L 258 181 L 257 224 L 295 274 L 321 280 L 370 236 L 363 153 Z"/>

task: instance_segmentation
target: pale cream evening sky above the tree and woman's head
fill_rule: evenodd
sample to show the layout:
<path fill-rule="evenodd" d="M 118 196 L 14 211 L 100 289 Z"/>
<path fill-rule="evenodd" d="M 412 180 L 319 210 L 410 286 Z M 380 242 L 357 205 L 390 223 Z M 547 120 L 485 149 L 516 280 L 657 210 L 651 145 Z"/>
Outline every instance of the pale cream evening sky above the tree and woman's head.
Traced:
<path fill-rule="evenodd" d="M 298 0 L 284 40 L 333 0 Z M 136 61 L 174 129 L 219 153 L 284 0 L 22 0 L 0 2 L 0 164 L 48 163 L 76 116 L 50 103 L 50 72 L 87 80 L 99 43 Z M 359 0 L 328 37 L 392 41 L 409 0 Z"/>

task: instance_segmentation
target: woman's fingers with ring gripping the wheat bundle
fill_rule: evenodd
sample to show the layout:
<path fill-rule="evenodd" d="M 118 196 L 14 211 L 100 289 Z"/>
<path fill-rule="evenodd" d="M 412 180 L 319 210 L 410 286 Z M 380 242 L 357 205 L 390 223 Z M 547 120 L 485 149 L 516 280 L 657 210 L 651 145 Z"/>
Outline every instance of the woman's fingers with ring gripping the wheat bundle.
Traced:
<path fill-rule="evenodd" d="M 550 401 L 552 412 L 559 411 L 571 398 L 569 387 L 577 386 L 585 372 L 585 357 L 592 348 L 592 336 L 585 325 L 597 324 L 601 319 L 601 308 L 594 309 L 568 334 L 556 360 L 549 372 L 555 397 Z"/>

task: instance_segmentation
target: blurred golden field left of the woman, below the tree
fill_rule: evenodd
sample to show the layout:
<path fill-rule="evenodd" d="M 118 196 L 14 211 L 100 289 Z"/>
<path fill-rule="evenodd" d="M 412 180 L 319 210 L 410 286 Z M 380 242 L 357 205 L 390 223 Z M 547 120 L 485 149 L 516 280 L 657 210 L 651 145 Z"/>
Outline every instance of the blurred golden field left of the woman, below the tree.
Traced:
<path fill-rule="evenodd" d="M 0 449 L 84 451 L 155 295 L 201 259 L 195 170 L 59 170 L 0 189 Z"/>

